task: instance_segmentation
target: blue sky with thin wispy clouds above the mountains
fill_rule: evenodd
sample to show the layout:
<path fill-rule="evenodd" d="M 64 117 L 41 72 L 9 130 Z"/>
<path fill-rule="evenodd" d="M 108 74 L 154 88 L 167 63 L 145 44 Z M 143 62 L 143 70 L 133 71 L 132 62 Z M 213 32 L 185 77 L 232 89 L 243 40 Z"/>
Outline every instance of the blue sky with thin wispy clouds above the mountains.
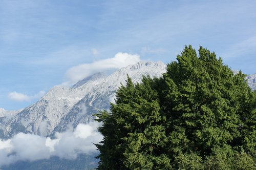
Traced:
<path fill-rule="evenodd" d="M 72 69 L 103 70 L 118 53 L 168 63 L 201 45 L 256 73 L 255 11 L 255 1 L 2 0 L 0 108 L 27 107 Z"/>

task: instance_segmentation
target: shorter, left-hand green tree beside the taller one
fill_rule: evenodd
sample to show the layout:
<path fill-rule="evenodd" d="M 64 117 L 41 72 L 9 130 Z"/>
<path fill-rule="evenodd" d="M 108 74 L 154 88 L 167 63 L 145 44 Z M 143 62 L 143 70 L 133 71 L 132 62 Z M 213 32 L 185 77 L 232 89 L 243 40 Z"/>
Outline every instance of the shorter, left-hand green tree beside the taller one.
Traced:
<path fill-rule="evenodd" d="M 128 77 L 126 86 L 117 91 L 111 112 L 97 115 L 103 122 L 99 132 L 104 136 L 96 144 L 101 152 L 99 169 L 170 168 L 162 152 L 166 136 L 161 122 L 165 117 L 160 113 L 154 84 L 149 77 L 143 77 L 141 84 L 133 84 Z"/>

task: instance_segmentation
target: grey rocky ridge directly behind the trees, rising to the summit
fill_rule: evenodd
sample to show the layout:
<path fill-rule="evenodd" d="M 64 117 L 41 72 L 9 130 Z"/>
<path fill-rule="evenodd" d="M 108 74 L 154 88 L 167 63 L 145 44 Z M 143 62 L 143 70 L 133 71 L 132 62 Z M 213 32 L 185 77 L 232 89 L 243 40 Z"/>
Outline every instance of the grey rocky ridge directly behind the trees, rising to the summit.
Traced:
<path fill-rule="evenodd" d="M 165 71 L 163 62 L 138 62 L 136 65 L 127 66 L 106 77 L 87 93 L 69 113 L 62 117 L 54 132 L 66 131 L 75 128 L 79 123 L 88 123 L 93 120 L 92 114 L 100 110 L 108 110 L 110 102 L 114 102 L 115 92 L 120 84 L 125 84 L 129 75 L 134 82 L 140 82 L 142 75 L 160 77 Z"/>

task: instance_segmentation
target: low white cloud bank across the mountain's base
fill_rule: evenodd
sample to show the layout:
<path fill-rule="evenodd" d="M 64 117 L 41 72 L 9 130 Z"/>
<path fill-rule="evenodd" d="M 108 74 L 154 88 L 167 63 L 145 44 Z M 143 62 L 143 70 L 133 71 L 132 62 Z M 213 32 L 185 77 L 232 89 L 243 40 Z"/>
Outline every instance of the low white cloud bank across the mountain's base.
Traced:
<path fill-rule="evenodd" d="M 79 154 L 93 154 L 97 147 L 93 143 L 102 140 L 97 131 L 100 124 L 78 124 L 73 131 L 56 133 L 55 139 L 19 133 L 8 140 L 0 139 L 0 167 L 16 161 L 49 159 L 51 156 L 75 159 Z"/>

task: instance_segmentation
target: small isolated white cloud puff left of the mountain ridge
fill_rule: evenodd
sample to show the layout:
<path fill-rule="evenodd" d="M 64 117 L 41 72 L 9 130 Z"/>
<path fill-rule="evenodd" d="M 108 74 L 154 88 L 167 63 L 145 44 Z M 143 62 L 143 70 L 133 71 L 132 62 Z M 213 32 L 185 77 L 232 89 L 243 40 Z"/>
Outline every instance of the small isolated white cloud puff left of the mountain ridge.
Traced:
<path fill-rule="evenodd" d="M 37 99 L 42 97 L 46 92 L 45 91 L 40 91 L 35 95 L 29 96 L 26 94 L 22 94 L 22 93 L 17 93 L 17 92 L 11 92 L 8 94 L 9 99 L 11 100 L 15 100 L 15 101 L 30 101 L 32 99 Z"/>

